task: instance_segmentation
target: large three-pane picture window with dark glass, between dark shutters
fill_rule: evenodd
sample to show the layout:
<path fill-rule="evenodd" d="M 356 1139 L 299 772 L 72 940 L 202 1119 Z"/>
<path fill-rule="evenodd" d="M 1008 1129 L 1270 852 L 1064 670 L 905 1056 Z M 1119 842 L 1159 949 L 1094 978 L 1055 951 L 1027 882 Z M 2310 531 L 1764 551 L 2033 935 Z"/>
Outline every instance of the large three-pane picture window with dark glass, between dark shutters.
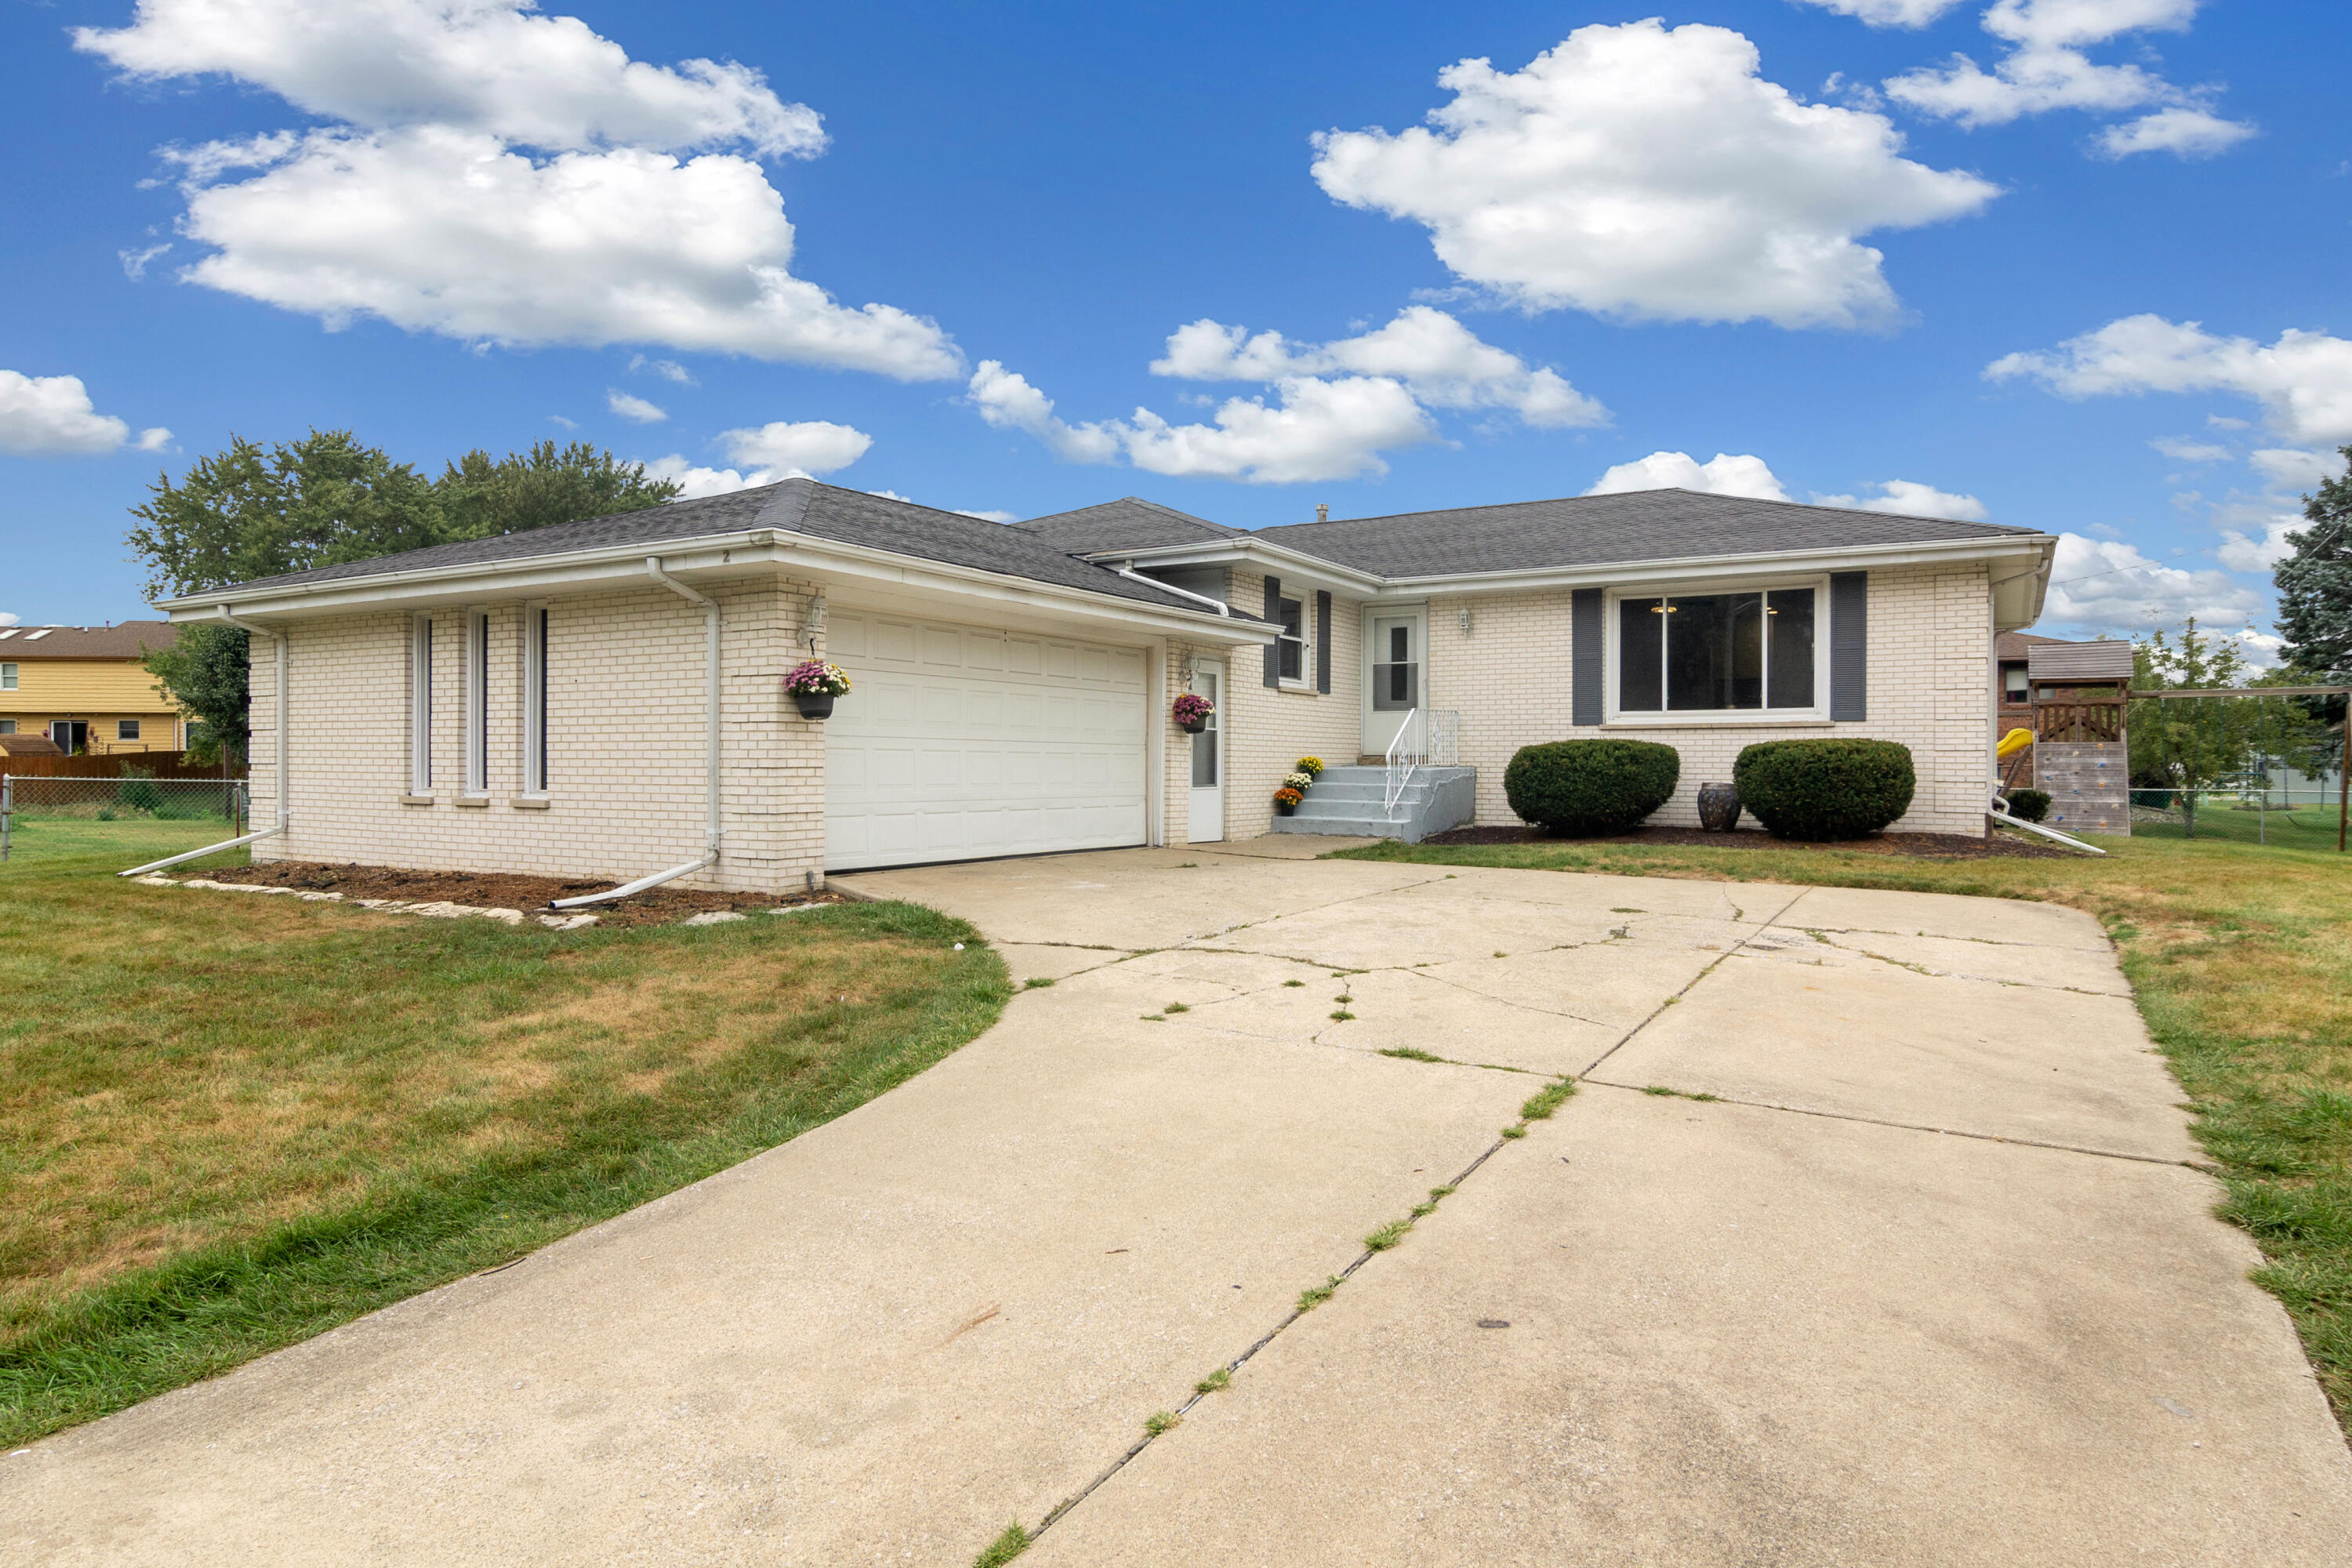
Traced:
<path fill-rule="evenodd" d="M 1618 599 L 1618 712 L 1813 710 L 1818 592 Z"/>

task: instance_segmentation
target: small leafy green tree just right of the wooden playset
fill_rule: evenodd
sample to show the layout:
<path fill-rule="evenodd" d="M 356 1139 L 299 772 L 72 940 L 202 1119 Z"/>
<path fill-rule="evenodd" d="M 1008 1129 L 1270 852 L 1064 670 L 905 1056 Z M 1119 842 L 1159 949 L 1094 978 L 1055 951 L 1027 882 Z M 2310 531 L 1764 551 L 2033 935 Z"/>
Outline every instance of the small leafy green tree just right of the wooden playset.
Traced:
<path fill-rule="evenodd" d="M 2307 679 L 2296 668 L 2256 672 L 2244 646 L 2197 630 L 2192 616 L 2178 637 L 2161 630 L 2131 649 L 2136 691 L 2227 691 L 2281 686 Z M 2131 783 L 2143 790 L 2178 790 L 2173 799 L 2190 837 L 2197 837 L 2197 792 L 2256 785 L 2272 762 L 2310 771 L 2326 729 L 2305 703 L 2288 698 L 2178 698 L 2143 701 L 2129 710 Z"/>

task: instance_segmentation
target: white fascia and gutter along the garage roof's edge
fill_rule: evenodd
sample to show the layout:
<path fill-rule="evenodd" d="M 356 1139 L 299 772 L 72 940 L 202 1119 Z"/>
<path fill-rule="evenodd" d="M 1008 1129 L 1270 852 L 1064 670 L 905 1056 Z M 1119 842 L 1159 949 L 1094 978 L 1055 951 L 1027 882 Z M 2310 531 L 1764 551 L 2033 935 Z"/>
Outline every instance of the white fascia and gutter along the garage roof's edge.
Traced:
<path fill-rule="evenodd" d="M 327 583 L 289 583 L 263 590 L 223 590 L 160 599 L 158 609 L 176 623 L 216 621 L 221 607 L 259 621 L 299 621 L 308 616 L 362 614 L 379 609 L 433 609 L 477 604 L 485 599 L 550 597 L 557 592 L 595 592 L 644 583 L 644 559 L 661 557 L 661 569 L 675 578 L 717 581 L 783 571 L 814 581 L 866 581 L 901 590 L 934 592 L 960 604 L 1018 604 L 1035 614 L 1065 621 L 1176 632 L 1192 642 L 1232 646 L 1265 644 L 1275 628 L 1261 621 L 1225 618 L 1214 611 L 1143 604 L 1117 595 L 1037 583 L 1030 578 L 927 562 L 891 550 L 849 545 L 783 529 L 746 529 L 691 541 L 647 541 L 607 545 L 569 555 L 534 555 L 515 562 L 430 567 L 423 571 L 388 571 L 383 576 L 336 578 Z"/>

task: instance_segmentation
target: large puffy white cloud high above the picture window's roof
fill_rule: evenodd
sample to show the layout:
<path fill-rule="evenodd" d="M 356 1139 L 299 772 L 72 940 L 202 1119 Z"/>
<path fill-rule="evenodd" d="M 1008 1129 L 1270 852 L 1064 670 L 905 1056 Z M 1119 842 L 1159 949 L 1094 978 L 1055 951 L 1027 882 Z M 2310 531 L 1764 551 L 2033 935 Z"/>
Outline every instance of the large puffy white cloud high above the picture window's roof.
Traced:
<path fill-rule="evenodd" d="M 1966 216 L 1997 188 L 1757 66 L 1729 28 L 1578 28 L 1524 71 L 1449 66 L 1428 127 L 1317 136 L 1315 179 L 1428 226 L 1456 275 L 1529 310 L 1886 324 L 1896 294 L 1860 235 Z"/>

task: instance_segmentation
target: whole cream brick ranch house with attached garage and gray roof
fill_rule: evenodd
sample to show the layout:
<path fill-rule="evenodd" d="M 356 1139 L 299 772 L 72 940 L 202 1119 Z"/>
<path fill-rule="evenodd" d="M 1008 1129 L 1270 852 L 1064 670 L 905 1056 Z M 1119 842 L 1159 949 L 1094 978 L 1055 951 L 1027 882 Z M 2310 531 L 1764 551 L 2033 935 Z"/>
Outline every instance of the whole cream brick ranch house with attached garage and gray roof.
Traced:
<path fill-rule="evenodd" d="M 254 642 L 259 858 L 790 891 L 828 870 L 1265 832 L 1291 759 L 1446 717 L 1475 816 L 1534 741 L 1905 743 L 1896 830 L 1983 832 L 2027 529 L 1639 491 L 1230 529 L 1023 524 L 786 480 L 169 599 Z M 802 719 L 781 677 L 854 679 Z M 1169 717 L 1183 691 L 1216 729 Z M 1418 715 L 1418 717 L 1416 717 Z M 1411 733 L 1411 731 L 1409 731 Z"/>

